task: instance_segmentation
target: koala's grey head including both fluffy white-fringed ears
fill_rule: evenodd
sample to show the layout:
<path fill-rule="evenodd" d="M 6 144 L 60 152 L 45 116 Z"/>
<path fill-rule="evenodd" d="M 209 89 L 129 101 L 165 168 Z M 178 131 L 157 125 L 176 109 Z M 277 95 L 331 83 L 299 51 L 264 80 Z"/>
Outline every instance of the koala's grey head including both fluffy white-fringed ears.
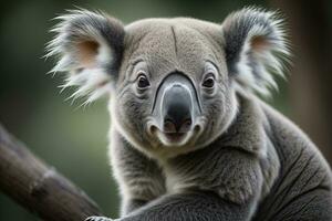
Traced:
<path fill-rule="evenodd" d="M 288 54 L 280 20 L 243 9 L 221 24 L 189 18 L 128 25 L 104 13 L 59 18 L 49 54 L 86 103 L 110 94 L 114 128 L 151 156 L 201 148 L 236 117 L 237 93 L 268 94 Z"/>

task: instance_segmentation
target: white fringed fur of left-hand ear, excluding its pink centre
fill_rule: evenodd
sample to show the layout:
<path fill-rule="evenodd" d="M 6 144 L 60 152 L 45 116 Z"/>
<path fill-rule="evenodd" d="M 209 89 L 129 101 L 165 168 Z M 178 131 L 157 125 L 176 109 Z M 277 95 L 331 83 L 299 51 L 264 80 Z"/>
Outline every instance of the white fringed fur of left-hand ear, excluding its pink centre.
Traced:
<path fill-rule="evenodd" d="M 64 72 L 64 84 L 61 91 L 68 87 L 76 87 L 76 92 L 69 97 L 73 102 L 77 97 L 86 97 L 84 105 L 101 96 L 108 94 L 111 75 L 106 72 L 107 62 L 112 62 L 112 49 L 101 34 L 96 22 L 106 22 L 107 19 L 102 13 L 87 10 L 70 10 L 69 14 L 55 18 L 60 20 L 51 32 L 55 32 L 55 38 L 46 45 L 46 55 L 58 57 L 55 66 L 51 73 Z M 98 24 L 98 23 L 97 23 Z M 80 61 L 77 44 L 84 41 L 95 42 L 97 53 L 92 64 L 84 64 Z"/>

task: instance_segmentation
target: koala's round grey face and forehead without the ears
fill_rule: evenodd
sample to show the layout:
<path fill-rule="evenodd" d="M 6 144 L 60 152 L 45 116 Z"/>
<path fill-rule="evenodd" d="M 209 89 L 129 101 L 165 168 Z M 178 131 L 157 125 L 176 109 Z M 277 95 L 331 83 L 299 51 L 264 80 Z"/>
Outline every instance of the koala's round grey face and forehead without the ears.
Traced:
<path fill-rule="evenodd" d="M 129 46 L 111 113 L 137 146 L 165 155 L 188 151 L 210 143 L 234 118 L 235 92 L 224 51 L 215 46 L 220 42 L 212 39 L 218 31 L 191 19 L 127 27 Z"/>

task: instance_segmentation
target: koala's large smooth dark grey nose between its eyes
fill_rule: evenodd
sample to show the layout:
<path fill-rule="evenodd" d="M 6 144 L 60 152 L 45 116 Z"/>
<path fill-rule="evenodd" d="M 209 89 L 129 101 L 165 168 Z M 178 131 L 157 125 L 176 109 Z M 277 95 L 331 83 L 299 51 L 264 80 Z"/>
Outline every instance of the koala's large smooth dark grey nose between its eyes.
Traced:
<path fill-rule="evenodd" d="M 165 90 L 163 101 L 164 131 L 186 133 L 191 126 L 193 98 L 190 91 L 181 84 Z"/>

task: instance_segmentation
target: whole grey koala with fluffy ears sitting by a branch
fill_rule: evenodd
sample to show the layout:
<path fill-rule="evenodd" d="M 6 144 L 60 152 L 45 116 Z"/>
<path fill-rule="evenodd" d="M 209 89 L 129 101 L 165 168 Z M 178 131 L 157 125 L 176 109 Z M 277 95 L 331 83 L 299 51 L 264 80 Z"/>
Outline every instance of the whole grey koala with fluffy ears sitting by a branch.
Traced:
<path fill-rule="evenodd" d="M 245 8 L 220 24 L 124 25 L 84 9 L 59 19 L 48 56 L 63 88 L 84 104 L 110 95 L 115 220 L 332 220 L 328 162 L 260 98 L 290 55 L 278 13 Z"/>

